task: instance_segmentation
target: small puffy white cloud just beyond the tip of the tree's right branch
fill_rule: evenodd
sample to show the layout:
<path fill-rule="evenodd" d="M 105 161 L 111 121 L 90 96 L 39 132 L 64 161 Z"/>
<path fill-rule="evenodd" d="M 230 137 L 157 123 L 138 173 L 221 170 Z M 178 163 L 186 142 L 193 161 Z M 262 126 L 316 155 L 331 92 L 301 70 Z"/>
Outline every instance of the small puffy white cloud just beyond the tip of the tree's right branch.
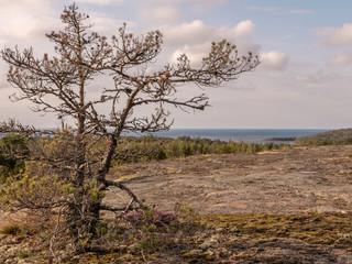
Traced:
<path fill-rule="evenodd" d="M 276 51 L 262 53 L 260 55 L 261 68 L 266 70 L 284 70 L 288 64 L 289 57 L 285 53 Z"/>

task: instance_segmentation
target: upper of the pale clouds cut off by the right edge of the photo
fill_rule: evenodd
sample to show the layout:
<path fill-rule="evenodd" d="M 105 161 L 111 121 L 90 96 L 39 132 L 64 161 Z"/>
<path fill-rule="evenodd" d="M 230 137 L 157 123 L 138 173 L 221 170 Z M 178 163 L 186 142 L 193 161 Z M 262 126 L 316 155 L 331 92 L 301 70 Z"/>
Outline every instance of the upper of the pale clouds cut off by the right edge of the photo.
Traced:
<path fill-rule="evenodd" d="M 321 42 L 324 46 L 343 46 L 352 44 L 352 24 L 343 24 L 342 28 L 323 28 L 317 31 L 324 37 Z"/>

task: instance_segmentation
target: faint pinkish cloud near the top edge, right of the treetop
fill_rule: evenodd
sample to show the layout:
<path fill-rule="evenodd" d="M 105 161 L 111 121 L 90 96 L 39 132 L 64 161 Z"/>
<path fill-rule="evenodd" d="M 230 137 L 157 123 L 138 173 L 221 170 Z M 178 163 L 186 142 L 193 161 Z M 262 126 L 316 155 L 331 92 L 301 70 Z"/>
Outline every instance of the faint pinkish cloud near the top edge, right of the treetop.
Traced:
<path fill-rule="evenodd" d="M 174 22 L 180 20 L 183 14 L 172 7 L 157 7 L 154 10 L 144 11 L 141 18 L 145 21 Z"/>

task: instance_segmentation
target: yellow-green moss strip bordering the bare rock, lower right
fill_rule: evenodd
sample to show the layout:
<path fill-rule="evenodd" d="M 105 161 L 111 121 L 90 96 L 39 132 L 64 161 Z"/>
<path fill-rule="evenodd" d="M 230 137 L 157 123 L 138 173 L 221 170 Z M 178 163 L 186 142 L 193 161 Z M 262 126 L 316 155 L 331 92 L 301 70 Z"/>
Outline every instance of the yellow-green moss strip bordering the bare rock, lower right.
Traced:
<path fill-rule="evenodd" d="M 202 217 L 208 227 L 229 230 L 237 227 L 239 235 L 251 240 L 289 238 L 310 244 L 333 244 L 352 250 L 352 213 L 308 215 L 211 215 Z"/>

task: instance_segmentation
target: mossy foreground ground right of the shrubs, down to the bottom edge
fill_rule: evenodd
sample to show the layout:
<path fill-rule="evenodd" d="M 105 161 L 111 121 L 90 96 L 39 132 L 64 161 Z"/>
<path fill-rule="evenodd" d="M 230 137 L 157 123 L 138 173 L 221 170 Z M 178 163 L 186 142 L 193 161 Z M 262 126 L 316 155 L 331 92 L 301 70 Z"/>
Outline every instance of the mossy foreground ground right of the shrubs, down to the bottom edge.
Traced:
<path fill-rule="evenodd" d="M 89 253 L 69 263 L 342 263 L 352 260 L 352 213 L 197 218 L 207 228 L 174 233 L 177 238 L 166 250 L 147 253 L 138 248 L 134 253 Z"/>

